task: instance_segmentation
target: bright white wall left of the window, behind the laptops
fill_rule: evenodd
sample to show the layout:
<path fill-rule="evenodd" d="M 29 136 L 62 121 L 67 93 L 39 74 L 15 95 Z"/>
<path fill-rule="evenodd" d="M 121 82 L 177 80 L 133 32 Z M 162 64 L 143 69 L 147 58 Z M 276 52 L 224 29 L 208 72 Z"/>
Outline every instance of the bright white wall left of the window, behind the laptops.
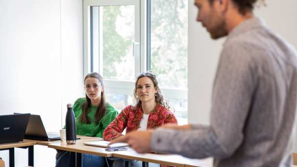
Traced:
<path fill-rule="evenodd" d="M 58 132 L 65 104 L 83 95 L 82 0 L 0 0 L 0 16 L 0 114 L 40 114 Z M 55 166 L 55 153 L 35 146 L 34 165 Z M 16 167 L 27 156 L 16 149 Z"/>

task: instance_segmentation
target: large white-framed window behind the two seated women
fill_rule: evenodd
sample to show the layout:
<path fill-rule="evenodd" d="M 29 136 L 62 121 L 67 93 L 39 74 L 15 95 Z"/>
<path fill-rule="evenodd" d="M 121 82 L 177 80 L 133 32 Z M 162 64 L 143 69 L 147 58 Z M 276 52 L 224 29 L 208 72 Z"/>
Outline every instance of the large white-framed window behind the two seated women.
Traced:
<path fill-rule="evenodd" d="M 99 72 L 118 110 L 135 77 L 153 71 L 176 116 L 187 118 L 187 0 L 84 0 L 84 73 Z"/>

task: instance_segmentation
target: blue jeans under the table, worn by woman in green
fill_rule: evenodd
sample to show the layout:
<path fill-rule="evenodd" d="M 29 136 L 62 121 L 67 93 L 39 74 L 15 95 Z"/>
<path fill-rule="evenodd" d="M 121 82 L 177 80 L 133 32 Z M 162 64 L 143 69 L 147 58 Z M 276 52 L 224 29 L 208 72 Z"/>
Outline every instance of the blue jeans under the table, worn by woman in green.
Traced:
<path fill-rule="evenodd" d="M 104 167 L 106 166 L 105 157 L 91 154 L 82 154 L 83 167 Z M 56 160 L 56 167 L 70 167 L 70 152 L 63 152 Z"/>

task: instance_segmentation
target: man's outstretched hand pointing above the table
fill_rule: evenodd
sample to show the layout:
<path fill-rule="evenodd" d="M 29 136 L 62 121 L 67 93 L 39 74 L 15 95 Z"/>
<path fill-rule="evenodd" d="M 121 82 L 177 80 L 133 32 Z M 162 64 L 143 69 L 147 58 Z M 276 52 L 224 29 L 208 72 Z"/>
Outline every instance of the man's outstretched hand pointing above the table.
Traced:
<path fill-rule="evenodd" d="M 150 151 L 150 138 L 152 131 L 135 131 L 112 139 L 110 144 L 116 142 L 127 142 L 131 148 L 138 153 L 147 153 Z"/>

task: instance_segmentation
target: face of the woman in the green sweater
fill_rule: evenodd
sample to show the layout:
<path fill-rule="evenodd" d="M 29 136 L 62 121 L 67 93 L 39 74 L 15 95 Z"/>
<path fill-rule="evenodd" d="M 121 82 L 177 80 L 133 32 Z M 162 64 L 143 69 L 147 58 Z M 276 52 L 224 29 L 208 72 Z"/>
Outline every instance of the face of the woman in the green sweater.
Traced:
<path fill-rule="evenodd" d="M 101 92 L 103 91 L 103 86 L 100 84 L 99 80 L 94 77 L 88 77 L 85 80 L 85 91 L 87 96 L 91 101 L 101 100 Z"/>

